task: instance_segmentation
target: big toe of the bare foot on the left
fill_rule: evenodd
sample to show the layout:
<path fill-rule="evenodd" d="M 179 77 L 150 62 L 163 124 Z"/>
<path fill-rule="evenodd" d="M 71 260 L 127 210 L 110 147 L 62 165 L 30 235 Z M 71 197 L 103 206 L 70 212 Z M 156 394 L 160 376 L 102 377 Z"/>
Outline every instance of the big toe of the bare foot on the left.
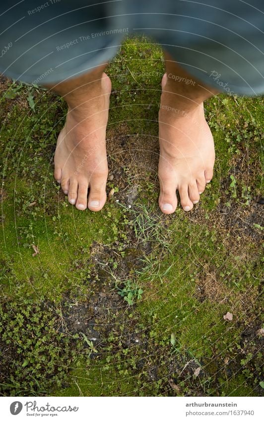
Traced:
<path fill-rule="evenodd" d="M 97 212 L 102 209 L 106 202 L 106 181 L 108 172 L 93 174 L 90 180 L 90 192 L 88 198 L 88 208 Z"/>

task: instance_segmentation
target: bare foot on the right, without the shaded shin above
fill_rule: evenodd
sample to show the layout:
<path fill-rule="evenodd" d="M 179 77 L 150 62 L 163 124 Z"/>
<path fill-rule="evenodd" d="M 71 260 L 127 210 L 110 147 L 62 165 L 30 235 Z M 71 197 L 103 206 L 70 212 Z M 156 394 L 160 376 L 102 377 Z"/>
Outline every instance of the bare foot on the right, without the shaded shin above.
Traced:
<path fill-rule="evenodd" d="M 166 92 L 166 84 L 165 73 L 159 110 L 159 206 L 170 214 L 177 207 L 176 190 L 185 211 L 198 203 L 206 182 L 212 179 L 215 154 L 203 104 L 186 111 L 179 97 Z"/>

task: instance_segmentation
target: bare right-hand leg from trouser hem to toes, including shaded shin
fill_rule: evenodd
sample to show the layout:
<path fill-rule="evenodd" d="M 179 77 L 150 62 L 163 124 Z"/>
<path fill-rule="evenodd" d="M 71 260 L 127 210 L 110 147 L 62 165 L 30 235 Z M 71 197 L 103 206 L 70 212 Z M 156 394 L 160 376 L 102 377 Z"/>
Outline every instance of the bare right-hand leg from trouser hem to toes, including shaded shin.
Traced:
<path fill-rule="evenodd" d="M 176 190 L 185 211 L 198 203 L 213 176 L 214 145 L 203 101 L 217 93 L 201 85 L 166 54 L 159 110 L 159 205 L 175 211 Z"/>

